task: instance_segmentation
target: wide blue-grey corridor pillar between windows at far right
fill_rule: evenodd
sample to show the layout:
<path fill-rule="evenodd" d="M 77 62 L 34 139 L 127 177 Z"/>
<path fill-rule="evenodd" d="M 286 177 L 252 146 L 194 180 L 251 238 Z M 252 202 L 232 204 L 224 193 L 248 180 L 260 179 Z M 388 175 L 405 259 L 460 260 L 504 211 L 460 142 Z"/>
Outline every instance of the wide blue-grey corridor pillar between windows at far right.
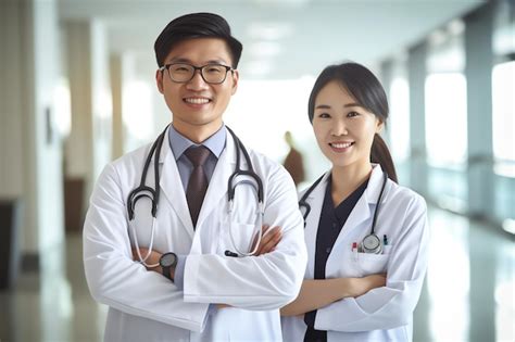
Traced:
<path fill-rule="evenodd" d="M 493 5 L 465 17 L 465 77 L 467 79 L 468 214 L 494 212 L 492 147 Z"/>

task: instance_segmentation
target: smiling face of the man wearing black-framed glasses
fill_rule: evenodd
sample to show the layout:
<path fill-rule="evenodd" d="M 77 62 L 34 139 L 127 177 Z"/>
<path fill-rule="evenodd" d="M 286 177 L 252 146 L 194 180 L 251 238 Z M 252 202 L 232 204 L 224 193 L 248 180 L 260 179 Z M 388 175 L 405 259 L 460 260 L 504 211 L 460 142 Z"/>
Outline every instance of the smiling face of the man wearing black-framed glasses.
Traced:
<path fill-rule="evenodd" d="M 227 43 L 218 38 L 187 39 L 177 43 L 164 60 L 165 65 L 188 63 L 194 66 L 231 65 L 231 62 Z M 158 71 L 155 80 L 172 111 L 174 128 L 194 142 L 202 142 L 222 126 L 222 115 L 238 86 L 238 72 L 228 72 L 219 85 L 205 83 L 200 71 L 184 84 L 172 81 L 167 71 Z"/>

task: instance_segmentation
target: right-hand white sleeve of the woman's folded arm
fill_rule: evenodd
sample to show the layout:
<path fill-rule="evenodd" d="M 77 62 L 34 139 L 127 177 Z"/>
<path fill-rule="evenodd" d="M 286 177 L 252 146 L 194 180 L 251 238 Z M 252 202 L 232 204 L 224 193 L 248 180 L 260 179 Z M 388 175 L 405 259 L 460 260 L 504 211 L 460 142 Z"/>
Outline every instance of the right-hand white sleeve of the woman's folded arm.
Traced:
<path fill-rule="evenodd" d="M 411 322 L 428 262 L 429 232 L 424 199 L 416 197 L 406 213 L 405 229 L 389 259 L 386 287 L 319 308 L 316 329 L 367 331 Z"/>

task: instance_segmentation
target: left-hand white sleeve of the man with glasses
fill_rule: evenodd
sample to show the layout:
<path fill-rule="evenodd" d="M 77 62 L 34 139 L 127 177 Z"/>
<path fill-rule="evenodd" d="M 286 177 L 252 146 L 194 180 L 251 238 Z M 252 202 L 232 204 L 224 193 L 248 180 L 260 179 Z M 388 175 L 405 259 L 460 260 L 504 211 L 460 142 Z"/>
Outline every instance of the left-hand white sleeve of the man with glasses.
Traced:
<path fill-rule="evenodd" d="M 110 164 L 96 185 L 84 225 L 84 266 L 91 295 L 130 315 L 202 331 L 209 305 L 186 303 L 172 281 L 133 261 L 122 193 Z"/>

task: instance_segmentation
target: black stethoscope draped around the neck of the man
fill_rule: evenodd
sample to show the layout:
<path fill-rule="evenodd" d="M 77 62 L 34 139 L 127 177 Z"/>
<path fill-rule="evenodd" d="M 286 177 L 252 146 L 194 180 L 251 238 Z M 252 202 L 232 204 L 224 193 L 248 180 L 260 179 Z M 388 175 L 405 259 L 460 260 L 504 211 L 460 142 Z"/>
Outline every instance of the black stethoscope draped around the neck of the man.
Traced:
<path fill-rule="evenodd" d="M 236 250 L 235 252 L 231 252 L 229 250 L 225 251 L 225 255 L 227 256 L 250 256 L 254 255 L 255 252 L 259 249 L 262 235 L 261 235 L 261 227 L 263 226 L 263 217 L 264 217 L 264 205 L 263 205 L 263 182 L 258 176 L 258 174 L 254 172 L 254 167 L 252 166 L 252 161 L 250 160 L 249 152 L 247 152 L 247 149 L 244 145 L 241 143 L 241 140 L 235 135 L 235 132 L 227 126 L 225 126 L 229 134 L 233 137 L 233 140 L 235 141 L 235 147 L 236 147 L 236 167 L 233 174 L 229 176 L 228 182 L 227 182 L 227 201 L 228 201 L 228 215 L 229 215 L 229 237 L 230 237 L 230 243 L 233 244 L 233 248 Z M 154 242 L 154 232 L 155 232 L 155 217 L 158 214 L 158 203 L 159 203 L 159 198 L 161 193 L 161 189 L 159 186 L 159 179 L 160 179 L 160 173 L 159 173 L 159 156 L 161 155 L 161 148 L 163 145 L 164 138 L 166 136 L 166 127 L 163 132 L 155 139 L 153 142 L 152 147 L 150 148 L 149 154 L 147 155 L 147 160 L 145 161 L 145 166 L 143 166 L 143 172 L 141 174 L 141 180 L 139 182 L 139 186 L 136 187 L 133 191 L 130 191 L 128 198 L 127 198 L 127 213 L 128 213 L 128 218 L 129 218 L 129 227 L 133 230 L 133 236 L 134 236 L 134 242 L 136 245 L 136 251 L 138 254 L 138 258 L 141 264 L 143 264 L 147 267 L 156 267 L 159 264 L 152 264 L 149 265 L 147 264 L 147 259 L 149 258 L 150 254 L 152 253 L 152 248 L 153 248 L 153 242 Z M 247 163 L 248 169 L 242 169 L 240 166 L 240 154 L 243 154 L 243 157 Z M 150 167 L 150 162 L 152 160 L 152 155 L 154 155 L 154 183 L 155 188 L 151 188 L 146 185 L 146 179 L 147 179 L 147 173 Z M 240 176 L 247 176 L 250 177 L 251 179 L 239 179 Z M 233 215 L 235 212 L 235 194 L 236 194 L 236 187 L 239 185 L 249 185 L 251 186 L 255 191 L 256 194 L 256 201 L 258 201 L 258 212 L 256 212 L 256 225 L 254 226 L 254 231 L 252 233 L 251 242 L 255 241 L 255 245 L 250 252 L 243 252 L 240 249 L 238 249 L 237 243 L 235 242 L 235 239 L 233 237 Z M 149 243 L 149 249 L 147 255 L 145 257 L 141 255 L 139 251 L 139 243 L 138 243 L 138 237 L 136 235 L 136 228 L 134 227 L 135 225 L 133 224 L 133 220 L 135 218 L 135 207 L 136 203 L 138 200 L 147 198 L 151 201 L 152 203 L 152 208 L 151 208 L 151 214 L 152 214 L 152 228 L 150 232 L 150 243 Z"/>

